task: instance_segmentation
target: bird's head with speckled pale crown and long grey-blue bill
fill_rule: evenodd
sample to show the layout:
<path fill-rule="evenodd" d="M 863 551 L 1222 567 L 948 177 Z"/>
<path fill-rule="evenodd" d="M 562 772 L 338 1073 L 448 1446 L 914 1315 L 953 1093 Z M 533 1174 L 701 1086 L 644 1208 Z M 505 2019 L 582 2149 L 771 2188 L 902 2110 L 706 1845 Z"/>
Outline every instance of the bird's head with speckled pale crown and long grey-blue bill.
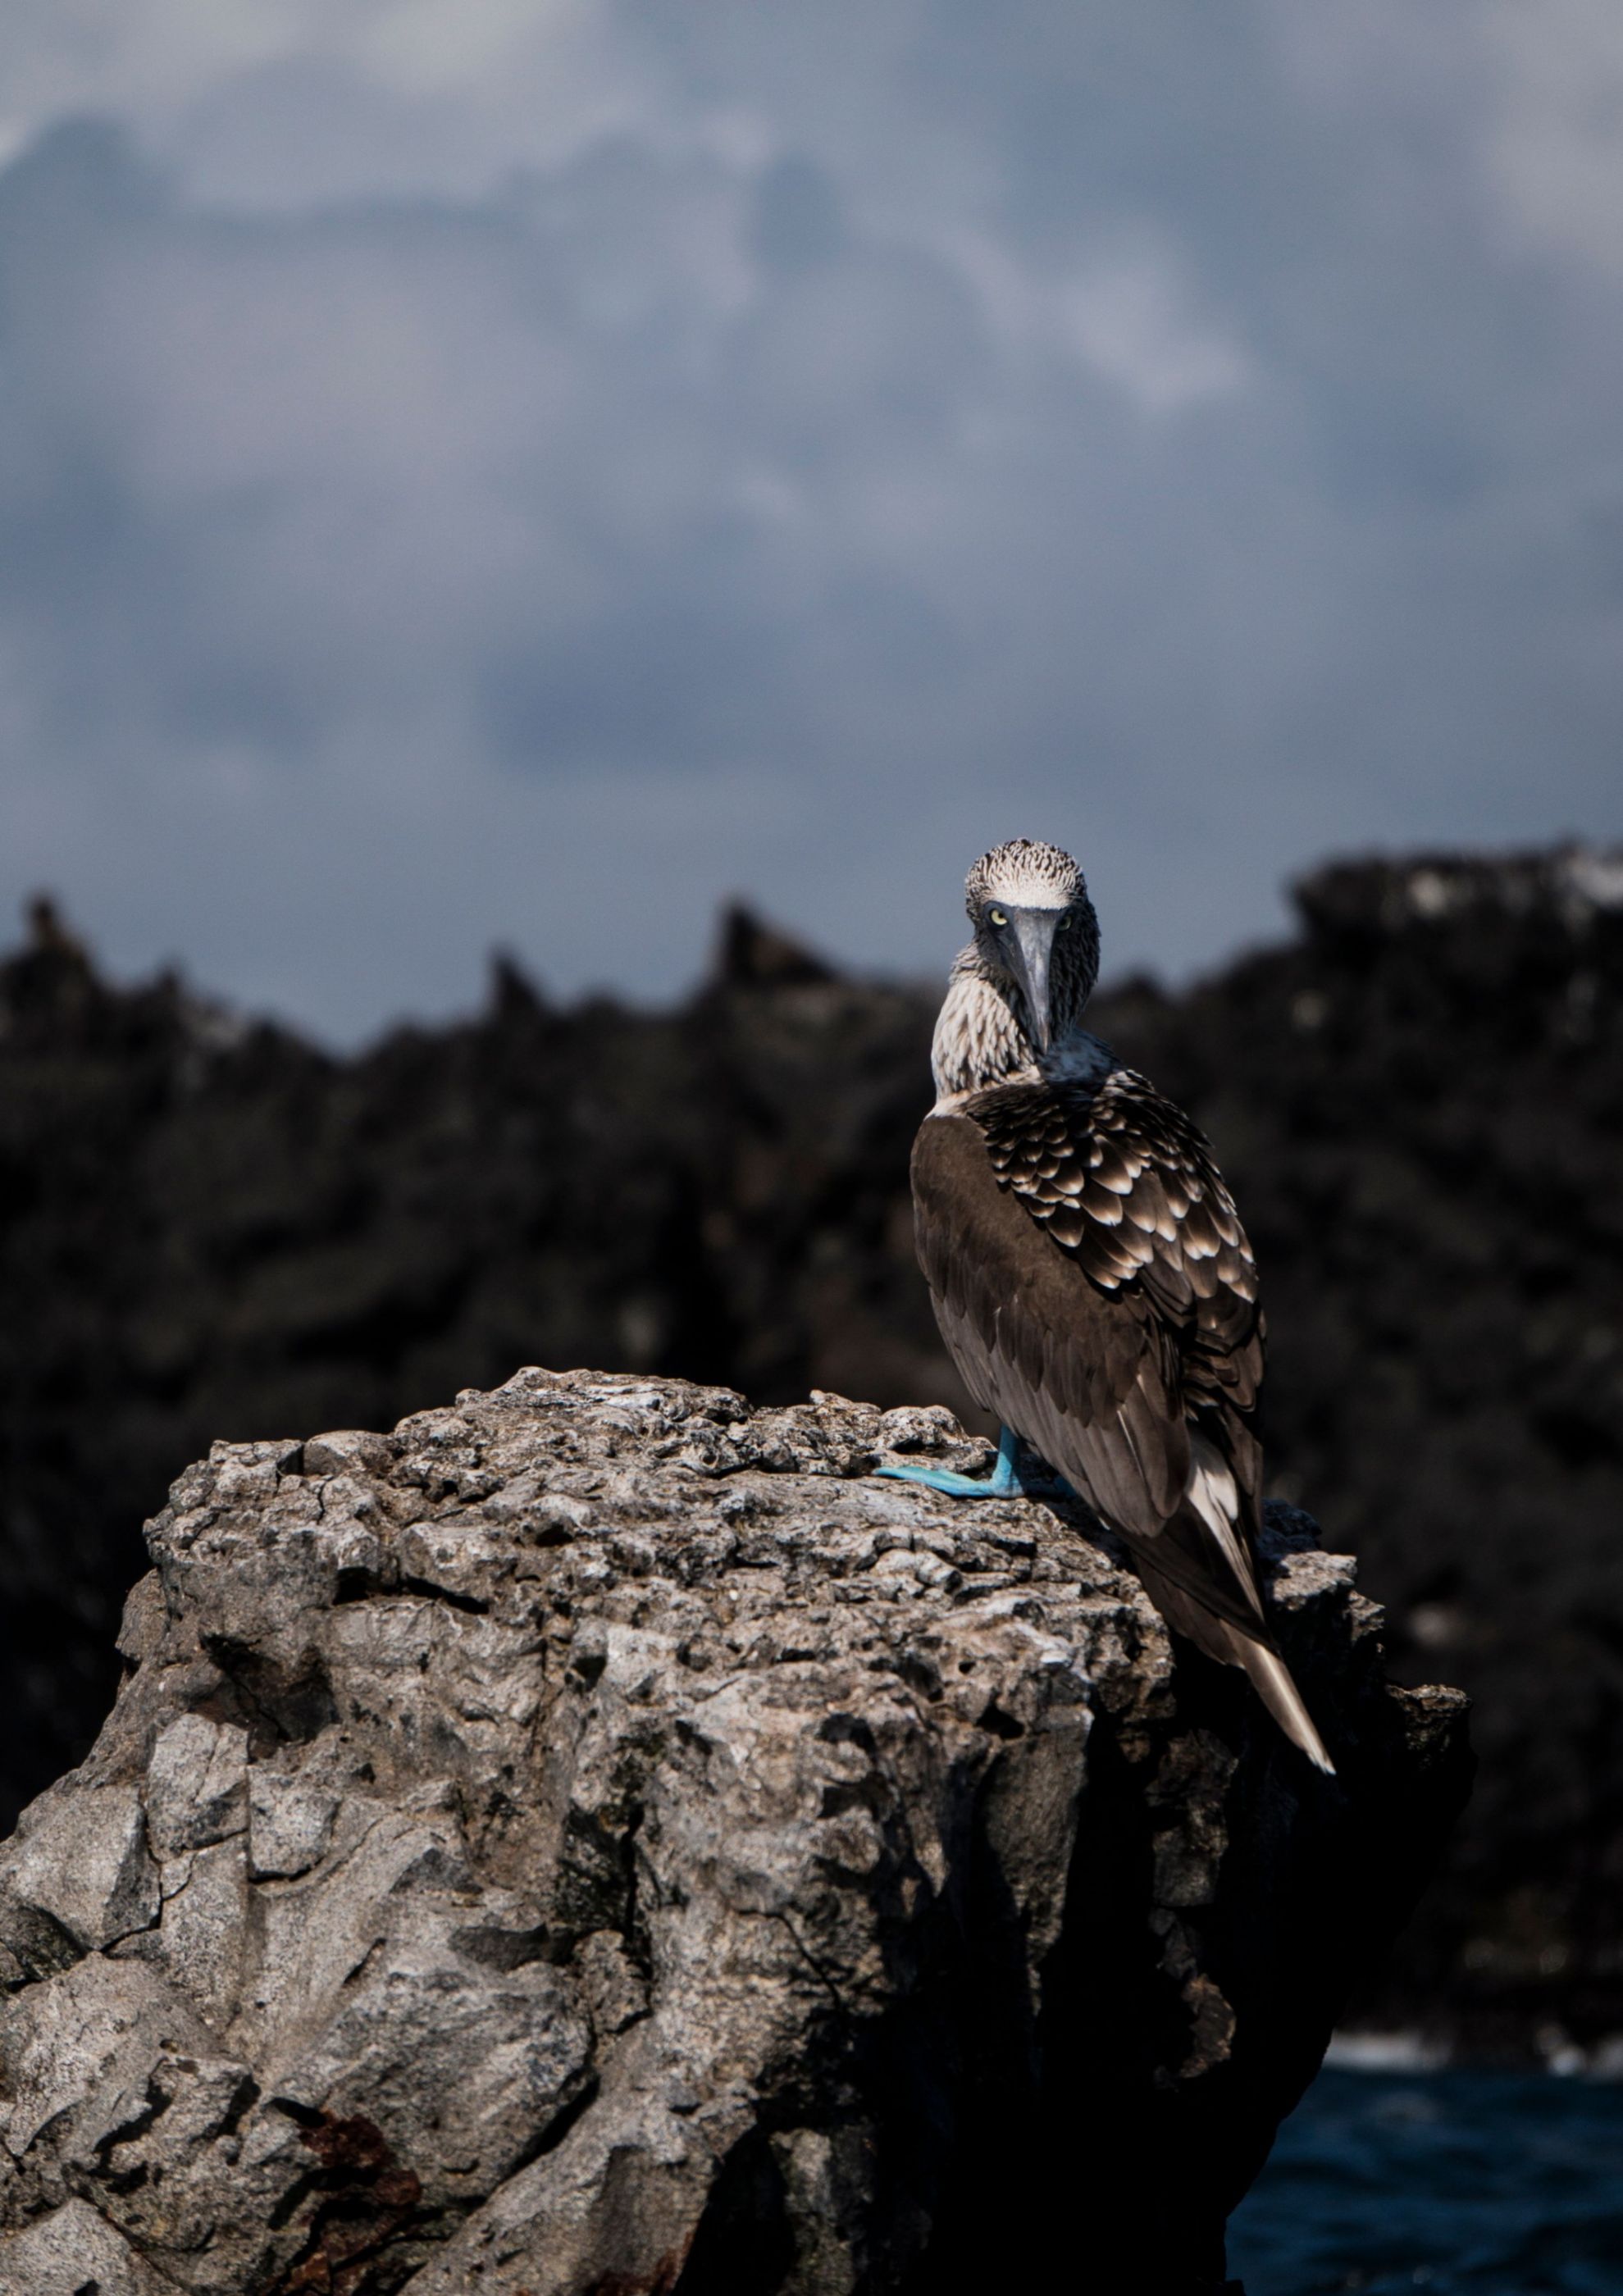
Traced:
<path fill-rule="evenodd" d="M 1088 886 L 1058 845 L 1015 838 L 964 879 L 976 971 L 1015 1010 L 1035 1052 L 1081 1017 L 1100 978 L 1100 921 Z"/>

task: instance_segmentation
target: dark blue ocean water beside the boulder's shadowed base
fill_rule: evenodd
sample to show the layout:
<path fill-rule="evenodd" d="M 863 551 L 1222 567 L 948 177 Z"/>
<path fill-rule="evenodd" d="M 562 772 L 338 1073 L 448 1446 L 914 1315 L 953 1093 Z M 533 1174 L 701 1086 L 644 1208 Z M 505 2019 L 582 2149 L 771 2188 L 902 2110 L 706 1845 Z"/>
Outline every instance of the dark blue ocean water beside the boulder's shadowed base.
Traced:
<path fill-rule="evenodd" d="M 1228 2271 L 1247 2296 L 1623 2296 L 1623 2080 L 1329 2066 Z"/>

